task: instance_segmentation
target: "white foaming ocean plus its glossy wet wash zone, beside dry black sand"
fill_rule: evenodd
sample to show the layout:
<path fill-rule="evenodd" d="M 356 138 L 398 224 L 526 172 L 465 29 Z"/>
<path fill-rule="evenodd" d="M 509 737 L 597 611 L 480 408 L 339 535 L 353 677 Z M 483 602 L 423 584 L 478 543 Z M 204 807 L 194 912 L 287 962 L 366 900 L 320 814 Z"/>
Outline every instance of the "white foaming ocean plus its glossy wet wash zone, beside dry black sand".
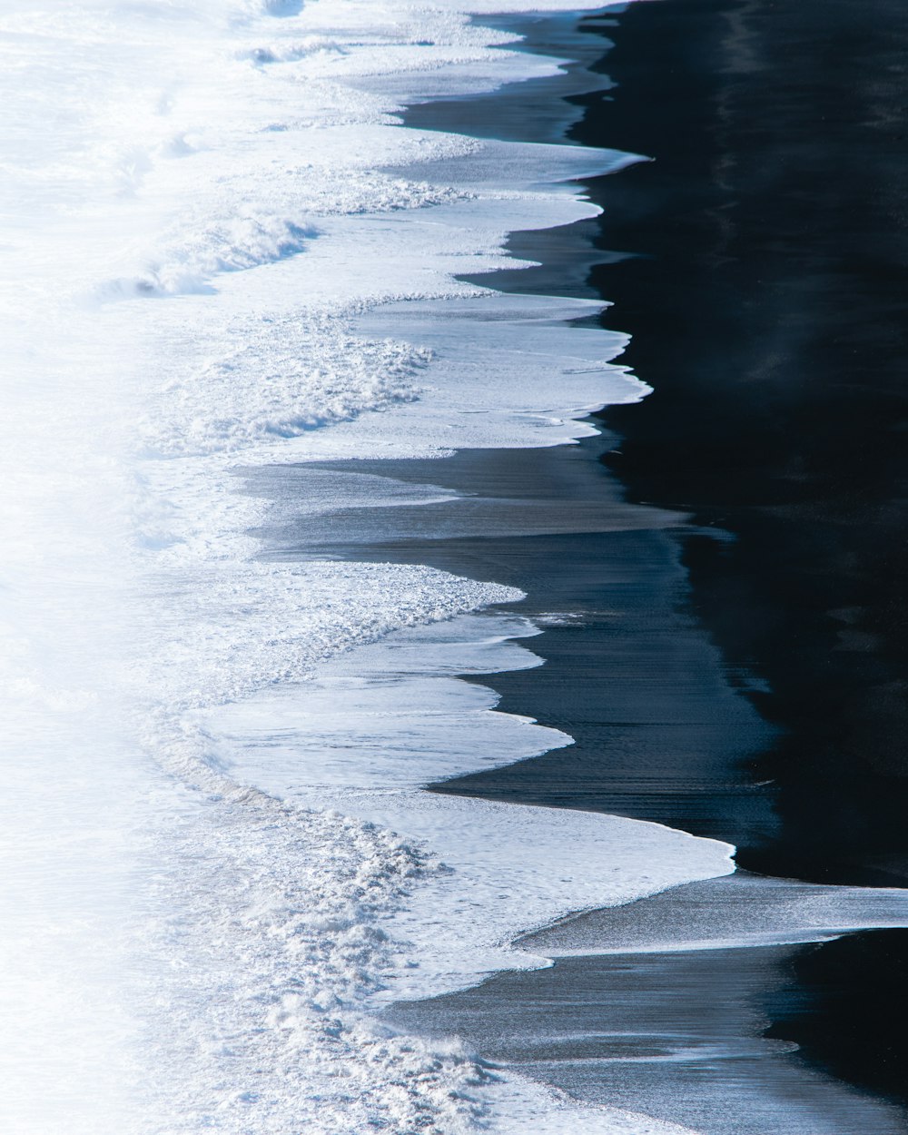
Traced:
<path fill-rule="evenodd" d="M 738 530 L 638 491 L 658 140 L 586 102 L 689 6 L 527 7 L 0 15 L 5 1130 L 902 1129 L 754 1039 L 905 892 L 800 852 Z"/>

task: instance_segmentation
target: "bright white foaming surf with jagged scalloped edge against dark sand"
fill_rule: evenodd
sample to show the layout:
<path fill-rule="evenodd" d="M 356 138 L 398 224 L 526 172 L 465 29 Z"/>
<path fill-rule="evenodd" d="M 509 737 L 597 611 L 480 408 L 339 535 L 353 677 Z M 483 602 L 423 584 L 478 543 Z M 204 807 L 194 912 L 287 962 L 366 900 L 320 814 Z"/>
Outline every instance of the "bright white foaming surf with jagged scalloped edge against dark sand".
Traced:
<path fill-rule="evenodd" d="M 571 326 L 599 304 L 455 279 L 633 157 L 401 125 L 556 75 L 471 20 L 524 7 L 3 6 L 9 1135 L 680 1130 L 378 1012 L 546 965 L 519 934 L 733 849 L 424 792 L 570 743 L 459 679 L 539 664 L 495 609 L 519 594 L 263 554 L 300 516 L 457 507 L 330 471 L 301 499 L 281 468 L 568 444 L 647 394 Z"/>

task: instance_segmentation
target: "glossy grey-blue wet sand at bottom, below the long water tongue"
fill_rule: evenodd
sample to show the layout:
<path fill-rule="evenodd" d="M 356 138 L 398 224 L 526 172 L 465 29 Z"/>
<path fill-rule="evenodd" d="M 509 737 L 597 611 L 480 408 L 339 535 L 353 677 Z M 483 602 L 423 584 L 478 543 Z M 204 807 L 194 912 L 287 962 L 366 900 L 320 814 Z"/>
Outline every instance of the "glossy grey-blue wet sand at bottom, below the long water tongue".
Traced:
<path fill-rule="evenodd" d="M 833 943 L 838 944 L 838 943 Z M 764 1036 L 792 998 L 792 947 L 564 958 L 474 990 L 397 1006 L 491 1061 L 572 1095 L 681 1123 L 704 1135 L 899 1135 L 900 1109 L 836 1083 Z M 777 1002 L 771 1004 L 771 1002 Z"/>

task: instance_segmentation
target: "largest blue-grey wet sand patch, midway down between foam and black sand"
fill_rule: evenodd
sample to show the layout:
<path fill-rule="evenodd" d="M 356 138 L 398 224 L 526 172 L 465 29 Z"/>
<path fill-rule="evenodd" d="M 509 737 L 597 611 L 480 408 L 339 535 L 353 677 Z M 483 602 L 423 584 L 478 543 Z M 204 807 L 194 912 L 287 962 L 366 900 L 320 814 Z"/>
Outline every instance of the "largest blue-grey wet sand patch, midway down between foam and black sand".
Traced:
<path fill-rule="evenodd" d="M 528 592 L 514 609 L 545 627 L 532 648 L 546 665 L 478 681 L 501 693 L 501 709 L 537 717 L 575 743 L 437 791 L 771 842 L 772 793 L 755 784 L 749 765 L 772 730 L 742 693 L 747 675 L 729 681 L 687 609 L 687 572 L 671 538 L 683 514 L 625 504 L 599 461 L 609 444 L 288 470 L 300 496 L 331 469 L 443 486 L 466 499 L 308 520 L 280 535 L 280 554 L 429 564 Z"/>

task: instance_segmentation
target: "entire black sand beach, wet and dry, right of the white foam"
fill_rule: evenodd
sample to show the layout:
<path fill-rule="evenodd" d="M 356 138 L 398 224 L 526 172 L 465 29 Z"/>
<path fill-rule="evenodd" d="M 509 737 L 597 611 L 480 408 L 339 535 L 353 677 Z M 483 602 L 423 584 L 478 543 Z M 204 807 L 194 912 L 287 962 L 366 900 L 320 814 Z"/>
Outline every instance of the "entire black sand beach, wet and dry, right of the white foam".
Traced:
<path fill-rule="evenodd" d="M 358 462 L 473 497 L 456 522 L 398 507 L 280 533 L 276 554 L 528 591 L 546 665 L 482 683 L 577 743 L 437 791 L 656 819 L 766 875 L 903 885 L 908 10 L 656 0 L 586 26 L 608 79 L 590 93 L 575 72 L 582 120 L 545 84 L 412 120 L 526 137 L 538 117 L 539 137 L 561 123 L 656 159 L 590 184 L 595 226 L 515 235 L 540 269 L 481 280 L 595 288 L 655 393 L 568 449 Z M 705 1133 L 889 1135 L 908 1130 L 907 939 L 561 958 L 394 1019 Z"/>

